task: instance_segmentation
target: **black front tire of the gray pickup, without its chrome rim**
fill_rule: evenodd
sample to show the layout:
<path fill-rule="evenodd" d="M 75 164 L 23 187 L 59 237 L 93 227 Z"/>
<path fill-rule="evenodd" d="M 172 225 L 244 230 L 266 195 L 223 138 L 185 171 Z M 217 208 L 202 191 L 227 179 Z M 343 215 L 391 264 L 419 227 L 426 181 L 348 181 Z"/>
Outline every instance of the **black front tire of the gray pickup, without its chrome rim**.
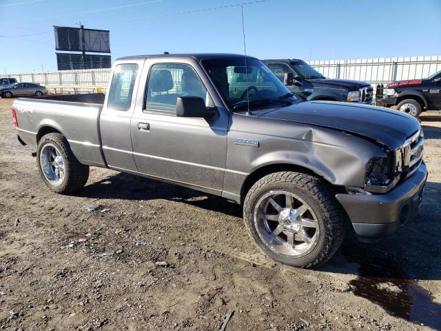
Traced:
<path fill-rule="evenodd" d="M 285 190 L 303 199 L 314 211 L 320 234 L 311 252 L 301 257 L 280 254 L 260 239 L 254 224 L 254 207 L 260 197 L 271 190 Z M 249 234 L 267 256 L 280 263 L 300 268 L 314 268 L 325 263 L 340 247 L 345 237 L 345 222 L 332 186 L 326 181 L 302 172 L 274 172 L 257 181 L 245 197 L 243 217 Z"/>

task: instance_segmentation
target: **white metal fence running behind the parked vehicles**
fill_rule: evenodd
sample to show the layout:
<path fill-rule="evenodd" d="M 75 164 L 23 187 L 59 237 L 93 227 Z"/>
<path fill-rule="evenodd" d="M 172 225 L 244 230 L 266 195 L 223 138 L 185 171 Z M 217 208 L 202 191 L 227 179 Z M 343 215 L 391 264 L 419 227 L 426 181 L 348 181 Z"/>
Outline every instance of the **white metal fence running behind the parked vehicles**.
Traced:
<path fill-rule="evenodd" d="M 441 70 L 441 56 L 309 61 L 309 64 L 328 78 L 367 81 L 375 93 L 379 83 L 419 79 L 438 72 Z M 79 93 L 93 92 L 96 88 L 105 90 L 110 79 L 110 69 L 12 73 L 1 76 L 41 83 L 50 92 Z"/>

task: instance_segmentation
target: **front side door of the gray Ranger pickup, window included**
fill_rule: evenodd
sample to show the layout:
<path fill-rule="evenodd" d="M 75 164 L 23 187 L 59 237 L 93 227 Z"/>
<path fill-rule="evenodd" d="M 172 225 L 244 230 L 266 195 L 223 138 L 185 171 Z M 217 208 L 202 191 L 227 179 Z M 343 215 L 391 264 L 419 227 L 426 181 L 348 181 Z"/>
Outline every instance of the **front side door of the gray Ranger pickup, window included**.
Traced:
<path fill-rule="evenodd" d="M 213 102 L 203 72 L 189 63 L 154 59 L 147 59 L 145 67 L 144 99 L 130 126 L 136 168 L 148 177 L 220 194 L 229 115 L 218 109 L 212 119 L 176 116 L 178 97 L 201 97 L 207 106 Z"/>

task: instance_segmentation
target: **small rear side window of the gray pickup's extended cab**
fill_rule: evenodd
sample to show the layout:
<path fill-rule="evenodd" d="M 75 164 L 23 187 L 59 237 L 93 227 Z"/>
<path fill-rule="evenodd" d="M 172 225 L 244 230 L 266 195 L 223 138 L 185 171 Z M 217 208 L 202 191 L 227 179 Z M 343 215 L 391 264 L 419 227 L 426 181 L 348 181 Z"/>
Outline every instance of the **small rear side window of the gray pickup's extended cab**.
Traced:
<path fill-rule="evenodd" d="M 119 64 L 115 67 L 110 83 L 108 108 L 129 110 L 137 71 L 137 64 Z"/>

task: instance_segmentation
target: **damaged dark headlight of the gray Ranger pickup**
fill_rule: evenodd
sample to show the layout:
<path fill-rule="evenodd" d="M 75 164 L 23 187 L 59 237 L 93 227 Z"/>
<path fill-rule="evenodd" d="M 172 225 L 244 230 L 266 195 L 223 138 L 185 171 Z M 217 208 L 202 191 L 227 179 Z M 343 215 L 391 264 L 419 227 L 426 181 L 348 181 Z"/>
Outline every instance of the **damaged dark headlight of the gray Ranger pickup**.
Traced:
<path fill-rule="evenodd" d="M 393 172 L 393 156 L 373 157 L 367 164 L 365 190 L 385 193 L 400 181 L 400 175 Z"/>

